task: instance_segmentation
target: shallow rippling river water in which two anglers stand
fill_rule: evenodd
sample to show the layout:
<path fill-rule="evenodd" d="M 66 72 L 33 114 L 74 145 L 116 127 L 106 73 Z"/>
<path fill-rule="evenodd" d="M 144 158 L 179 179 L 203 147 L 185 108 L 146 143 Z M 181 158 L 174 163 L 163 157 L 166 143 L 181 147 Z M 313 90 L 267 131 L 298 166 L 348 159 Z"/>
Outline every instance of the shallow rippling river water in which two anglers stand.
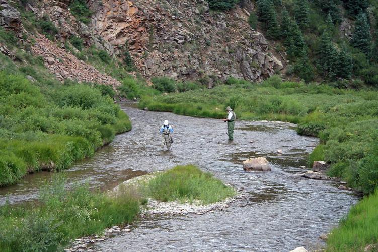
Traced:
<path fill-rule="evenodd" d="M 160 216 L 141 219 L 129 233 L 92 247 L 103 251 L 215 250 L 288 251 L 298 246 L 322 246 L 318 238 L 346 215 L 358 197 L 329 181 L 301 177 L 306 157 L 317 138 L 299 136 L 295 125 L 279 122 L 237 121 L 235 141 L 229 143 L 226 123 L 172 113 L 142 111 L 123 106 L 132 120 L 131 132 L 116 136 L 93 158 L 64 171 L 70 182 L 112 188 L 120 181 L 196 164 L 230 183 L 247 197 L 223 211 L 205 215 Z M 158 130 L 165 119 L 174 127 L 172 152 L 161 151 Z M 281 149 L 281 155 L 277 150 Z M 245 172 L 247 158 L 266 157 L 271 172 Z M 26 176 L 19 184 L 0 188 L 0 203 L 34 199 L 41 178 Z"/>

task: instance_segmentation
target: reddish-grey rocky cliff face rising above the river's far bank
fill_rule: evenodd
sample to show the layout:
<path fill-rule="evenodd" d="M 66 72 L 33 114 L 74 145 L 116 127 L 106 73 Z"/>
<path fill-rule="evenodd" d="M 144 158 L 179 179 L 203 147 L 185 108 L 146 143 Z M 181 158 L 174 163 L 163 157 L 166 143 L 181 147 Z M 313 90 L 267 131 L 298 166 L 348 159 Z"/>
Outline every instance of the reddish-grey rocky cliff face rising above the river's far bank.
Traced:
<path fill-rule="evenodd" d="M 69 0 L 31 1 L 26 9 L 38 18 L 49 16 L 59 30 L 58 47 L 69 36 L 80 36 L 85 45 L 110 55 L 129 50 L 146 78 L 204 78 L 211 86 L 228 77 L 261 81 L 283 68 L 263 34 L 250 28 L 248 10 L 254 7 L 244 2 L 224 13 L 209 10 L 204 0 L 89 0 L 88 25 L 72 16 Z"/>

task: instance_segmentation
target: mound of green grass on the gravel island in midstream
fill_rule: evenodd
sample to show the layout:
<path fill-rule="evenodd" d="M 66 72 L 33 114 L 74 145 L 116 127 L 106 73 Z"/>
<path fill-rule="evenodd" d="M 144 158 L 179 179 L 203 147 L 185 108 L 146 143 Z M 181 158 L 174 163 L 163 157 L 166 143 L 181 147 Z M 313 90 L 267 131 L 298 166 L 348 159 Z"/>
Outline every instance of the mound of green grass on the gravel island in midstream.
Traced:
<path fill-rule="evenodd" d="M 145 194 L 160 201 L 193 202 L 206 205 L 236 194 L 235 190 L 194 165 L 176 166 L 148 181 Z"/>

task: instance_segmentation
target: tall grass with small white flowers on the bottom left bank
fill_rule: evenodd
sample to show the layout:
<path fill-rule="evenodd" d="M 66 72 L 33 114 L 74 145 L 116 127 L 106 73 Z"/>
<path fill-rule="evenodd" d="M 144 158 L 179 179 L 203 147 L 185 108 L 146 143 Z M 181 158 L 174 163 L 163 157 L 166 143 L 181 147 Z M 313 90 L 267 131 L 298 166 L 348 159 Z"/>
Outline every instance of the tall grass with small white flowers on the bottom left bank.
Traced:
<path fill-rule="evenodd" d="M 139 212 L 141 198 L 132 190 L 110 197 L 87 185 L 68 191 L 65 183 L 54 175 L 42 186 L 38 202 L 0 207 L 1 251 L 60 251 L 74 238 L 130 223 Z"/>

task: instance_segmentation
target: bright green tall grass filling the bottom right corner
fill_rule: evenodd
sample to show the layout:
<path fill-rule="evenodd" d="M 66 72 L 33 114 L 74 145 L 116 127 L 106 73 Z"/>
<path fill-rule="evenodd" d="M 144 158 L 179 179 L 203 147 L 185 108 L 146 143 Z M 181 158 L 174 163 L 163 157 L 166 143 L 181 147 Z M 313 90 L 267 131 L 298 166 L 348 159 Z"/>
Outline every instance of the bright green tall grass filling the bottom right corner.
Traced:
<path fill-rule="evenodd" d="M 378 191 L 362 199 L 349 211 L 340 227 L 328 235 L 326 251 L 364 251 L 367 245 L 378 243 Z"/>

